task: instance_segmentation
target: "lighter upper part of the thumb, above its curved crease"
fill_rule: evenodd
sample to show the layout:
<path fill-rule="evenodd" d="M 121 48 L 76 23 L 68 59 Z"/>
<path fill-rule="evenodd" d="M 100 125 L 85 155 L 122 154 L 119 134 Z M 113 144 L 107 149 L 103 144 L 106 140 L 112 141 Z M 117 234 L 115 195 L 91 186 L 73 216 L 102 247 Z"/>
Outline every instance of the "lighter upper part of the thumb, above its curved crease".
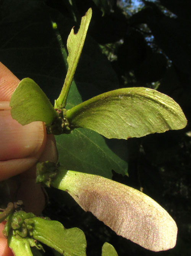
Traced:
<path fill-rule="evenodd" d="M 22 126 L 11 117 L 10 110 L 0 110 L 0 160 L 37 157 L 42 153 L 46 131 L 42 122 Z"/>

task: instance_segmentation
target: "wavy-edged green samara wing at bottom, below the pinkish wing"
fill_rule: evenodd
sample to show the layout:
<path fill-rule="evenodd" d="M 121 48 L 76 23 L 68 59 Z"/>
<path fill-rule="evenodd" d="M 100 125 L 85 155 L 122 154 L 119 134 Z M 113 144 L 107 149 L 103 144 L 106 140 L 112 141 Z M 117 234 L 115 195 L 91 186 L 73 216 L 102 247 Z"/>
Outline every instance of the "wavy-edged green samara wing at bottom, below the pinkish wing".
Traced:
<path fill-rule="evenodd" d="M 86 238 L 79 228 L 65 229 L 58 221 L 39 217 L 34 221 L 33 238 L 47 244 L 65 256 L 85 256 Z"/>

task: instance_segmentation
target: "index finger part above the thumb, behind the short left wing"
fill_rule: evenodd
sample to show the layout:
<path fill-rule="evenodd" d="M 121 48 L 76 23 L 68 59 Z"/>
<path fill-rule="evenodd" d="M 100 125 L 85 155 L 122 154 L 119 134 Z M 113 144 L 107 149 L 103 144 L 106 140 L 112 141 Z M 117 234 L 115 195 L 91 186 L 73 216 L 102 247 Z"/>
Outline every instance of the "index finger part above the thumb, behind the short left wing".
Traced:
<path fill-rule="evenodd" d="M 0 62 L 0 101 L 10 101 L 20 80 Z"/>

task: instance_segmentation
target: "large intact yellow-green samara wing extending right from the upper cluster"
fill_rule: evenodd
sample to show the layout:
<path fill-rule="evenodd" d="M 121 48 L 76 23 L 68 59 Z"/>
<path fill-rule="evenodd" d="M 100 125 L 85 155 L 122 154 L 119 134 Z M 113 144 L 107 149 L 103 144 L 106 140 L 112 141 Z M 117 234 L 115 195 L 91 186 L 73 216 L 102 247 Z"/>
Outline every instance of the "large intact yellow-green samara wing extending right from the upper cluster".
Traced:
<path fill-rule="evenodd" d="M 89 128 L 109 139 L 142 137 L 187 124 L 172 98 L 143 87 L 105 92 L 68 110 L 66 117 L 71 127 Z"/>

